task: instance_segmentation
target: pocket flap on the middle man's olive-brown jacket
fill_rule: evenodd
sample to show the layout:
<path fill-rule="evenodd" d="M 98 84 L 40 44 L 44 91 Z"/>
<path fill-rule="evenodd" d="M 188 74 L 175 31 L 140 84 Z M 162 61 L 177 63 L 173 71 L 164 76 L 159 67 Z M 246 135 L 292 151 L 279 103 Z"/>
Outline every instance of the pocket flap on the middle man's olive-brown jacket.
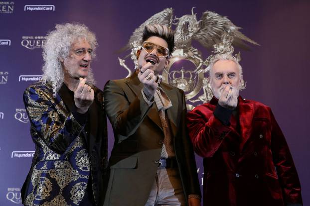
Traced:
<path fill-rule="evenodd" d="M 138 157 L 114 156 L 111 157 L 110 162 L 111 169 L 135 169 L 137 168 Z"/>

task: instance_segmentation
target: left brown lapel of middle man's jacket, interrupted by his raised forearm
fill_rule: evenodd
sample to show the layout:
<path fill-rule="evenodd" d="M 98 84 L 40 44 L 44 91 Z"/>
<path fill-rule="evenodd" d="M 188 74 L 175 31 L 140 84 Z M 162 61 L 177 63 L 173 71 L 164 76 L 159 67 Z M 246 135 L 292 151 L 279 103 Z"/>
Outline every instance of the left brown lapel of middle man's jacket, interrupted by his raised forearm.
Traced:
<path fill-rule="evenodd" d="M 137 72 L 134 72 L 132 74 L 132 76 L 129 77 L 128 80 L 129 81 L 126 82 L 128 87 L 135 93 L 136 96 L 139 96 L 141 93 L 141 90 L 143 89 L 143 84 L 138 79 Z M 142 100 L 142 101 L 144 101 L 144 100 Z M 161 126 L 160 117 L 159 117 L 155 103 L 153 103 L 152 107 L 148 111 L 148 117 L 152 121 L 154 121 L 154 123 L 161 129 L 161 131 L 163 131 L 162 126 Z"/>

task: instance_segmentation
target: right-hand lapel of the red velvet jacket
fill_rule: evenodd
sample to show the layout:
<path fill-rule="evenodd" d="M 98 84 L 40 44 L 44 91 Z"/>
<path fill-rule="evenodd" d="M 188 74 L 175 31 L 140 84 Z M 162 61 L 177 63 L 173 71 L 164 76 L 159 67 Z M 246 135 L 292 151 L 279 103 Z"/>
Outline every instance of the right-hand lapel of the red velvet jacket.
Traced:
<path fill-rule="evenodd" d="M 239 121 L 242 137 L 242 142 L 240 144 L 241 151 L 244 148 L 244 145 L 248 141 L 252 132 L 253 114 L 254 114 L 253 103 L 247 102 L 239 96 Z"/>

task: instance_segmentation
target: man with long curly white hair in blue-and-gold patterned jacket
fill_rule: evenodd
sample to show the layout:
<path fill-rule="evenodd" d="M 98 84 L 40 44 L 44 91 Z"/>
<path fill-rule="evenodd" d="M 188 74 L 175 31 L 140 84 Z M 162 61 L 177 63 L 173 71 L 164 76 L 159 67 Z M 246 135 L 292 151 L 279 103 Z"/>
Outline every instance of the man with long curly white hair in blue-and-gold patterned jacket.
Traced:
<path fill-rule="evenodd" d="M 58 24 L 48 33 L 42 81 L 23 95 L 36 149 L 21 190 L 26 206 L 102 205 L 107 126 L 90 69 L 97 46 L 83 24 Z"/>

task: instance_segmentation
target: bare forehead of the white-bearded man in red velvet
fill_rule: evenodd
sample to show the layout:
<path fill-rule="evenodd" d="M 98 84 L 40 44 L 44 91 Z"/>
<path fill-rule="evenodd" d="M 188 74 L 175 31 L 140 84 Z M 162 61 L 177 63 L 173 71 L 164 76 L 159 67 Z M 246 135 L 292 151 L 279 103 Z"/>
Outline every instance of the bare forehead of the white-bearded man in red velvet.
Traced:
<path fill-rule="evenodd" d="M 218 60 L 216 61 L 213 66 L 210 68 L 210 74 L 215 73 L 231 73 L 234 72 L 239 75 L 240 71 L 236 62 L 232 60 Z"/>

